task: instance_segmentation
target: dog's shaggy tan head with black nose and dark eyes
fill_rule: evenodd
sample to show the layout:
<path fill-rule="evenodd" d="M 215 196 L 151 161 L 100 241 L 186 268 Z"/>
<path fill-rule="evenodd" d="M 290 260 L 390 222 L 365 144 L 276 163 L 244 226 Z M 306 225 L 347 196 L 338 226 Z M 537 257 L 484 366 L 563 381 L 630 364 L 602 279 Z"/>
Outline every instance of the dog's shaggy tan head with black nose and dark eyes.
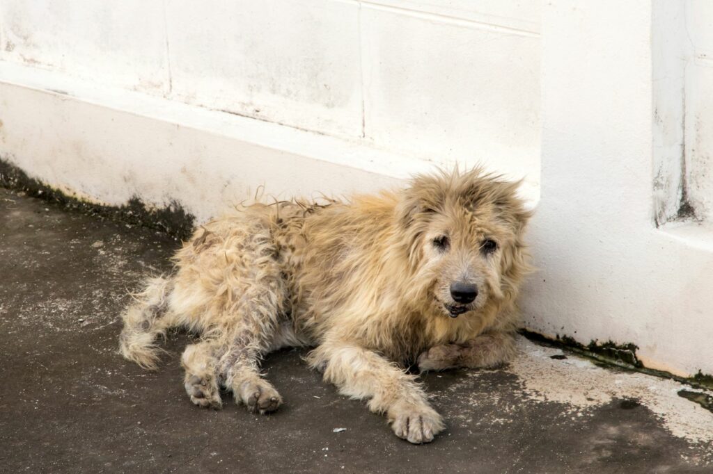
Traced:
<path fill-rule="evenodd" d="M 479 169 L 411 181 L 397 216 L 421 283 L 412 294 L 429 312 L 467 317 L 515 300 L 528 271 L 523 233 L 530 218 L 518 185 Z"/>

